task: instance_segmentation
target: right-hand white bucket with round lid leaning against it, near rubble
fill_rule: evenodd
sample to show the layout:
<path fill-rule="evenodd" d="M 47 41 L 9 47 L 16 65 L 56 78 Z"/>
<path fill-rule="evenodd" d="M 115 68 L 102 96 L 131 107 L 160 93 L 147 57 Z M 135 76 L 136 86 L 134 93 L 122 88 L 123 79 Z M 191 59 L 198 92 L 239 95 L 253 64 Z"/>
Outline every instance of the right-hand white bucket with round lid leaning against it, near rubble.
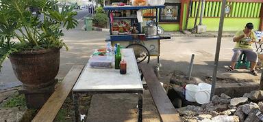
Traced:
<path fill-rule="evenodd" d="M 206 104 L 210 102 L 210 93 L 212 85 L 207 83 L 199 83 L 198 87 L 200 91 L 195 94 L 195 100 L 199 104 Z"/>

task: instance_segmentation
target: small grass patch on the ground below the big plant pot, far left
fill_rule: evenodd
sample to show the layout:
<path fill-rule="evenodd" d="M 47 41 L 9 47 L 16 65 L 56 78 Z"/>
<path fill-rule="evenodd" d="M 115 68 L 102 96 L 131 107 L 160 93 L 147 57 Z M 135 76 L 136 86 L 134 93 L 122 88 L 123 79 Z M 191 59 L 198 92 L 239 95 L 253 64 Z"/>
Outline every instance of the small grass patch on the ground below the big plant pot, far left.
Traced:
<path fill-rule="evenodd" d="M 25 95 L 14 95 L 6 102 L 3 103 L 3 107 L 5 108 L 13 108 L 13 107 L 23 107 L 27 106 L 25 102 Z"/>

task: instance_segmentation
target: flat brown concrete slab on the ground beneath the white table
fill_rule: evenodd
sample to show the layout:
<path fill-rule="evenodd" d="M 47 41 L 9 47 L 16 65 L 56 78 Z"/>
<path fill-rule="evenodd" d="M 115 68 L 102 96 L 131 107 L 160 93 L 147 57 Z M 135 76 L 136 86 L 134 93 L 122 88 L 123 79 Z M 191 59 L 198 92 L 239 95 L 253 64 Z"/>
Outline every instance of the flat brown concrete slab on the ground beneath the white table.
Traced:
<path fill-rule="evenodd" d="M 88 110 L 87 121 L 137 121 L 138 95 L 136 94 L 101 94 L 93 95 Z M 143 121 L 159 122 L 160 118 L 149 91 L 143 94 Z"/>

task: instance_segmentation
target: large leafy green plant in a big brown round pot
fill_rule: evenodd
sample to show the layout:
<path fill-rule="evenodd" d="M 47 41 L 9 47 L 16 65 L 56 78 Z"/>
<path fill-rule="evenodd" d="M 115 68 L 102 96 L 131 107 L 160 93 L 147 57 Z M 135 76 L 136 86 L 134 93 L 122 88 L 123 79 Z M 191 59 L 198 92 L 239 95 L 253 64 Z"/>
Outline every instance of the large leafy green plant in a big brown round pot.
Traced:
<path fill-rule="evenodd" d="M 25 89 L 42 89 L 55 82 L 60 48 L 66 47 L 62 29 L 73 29 L 74 6 L 59 10 L 54 0 L 0 1 L 0 66 L 9 57 L 14 74 Z M 30 8 L 38 8 L 41 15 Z"/>

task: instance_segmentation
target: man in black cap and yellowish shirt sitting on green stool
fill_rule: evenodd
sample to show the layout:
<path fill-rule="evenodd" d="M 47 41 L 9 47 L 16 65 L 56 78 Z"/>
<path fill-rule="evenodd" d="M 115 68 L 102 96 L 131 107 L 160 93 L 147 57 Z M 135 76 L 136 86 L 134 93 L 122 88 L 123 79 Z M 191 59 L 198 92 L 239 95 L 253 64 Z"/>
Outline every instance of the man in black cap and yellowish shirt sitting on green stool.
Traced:
<path fill-rule="evenodd" d="M 236 33 L 233 39 L 233 41 L 236 42 L 236 46 L 233 49 L 234 55 L 231 59 L 231 66 L 227 68 L 227 72 L 234 70 L 236 61 L 238 61 L 240 55 L 242 52 L 244 52 L 247 55 L 247 61 L 251 62 L 249 73 L 253 74 L 254 76 L 258 76 L 258 74 L 255 72 L 255 65 L 258 61 L 258 55 L 253 51 L 251 46 L 251 44 L 253 44 L 253 42 L 256 40 L 255 33 L 252 31 L 253 28 L 253 24 L 249 22 L 245 26 L 245 29 Z"/>

